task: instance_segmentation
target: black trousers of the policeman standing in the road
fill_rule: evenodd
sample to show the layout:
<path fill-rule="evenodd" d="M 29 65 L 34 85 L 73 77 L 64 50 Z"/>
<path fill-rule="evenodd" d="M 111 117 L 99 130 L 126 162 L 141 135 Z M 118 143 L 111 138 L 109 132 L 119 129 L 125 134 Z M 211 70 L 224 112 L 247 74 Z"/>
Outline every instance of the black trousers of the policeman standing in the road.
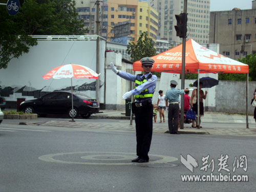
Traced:
<path fill-rule="evenodd" d="M 133 109 L 136 123 L 137 156 L 148 160 L 153 133 L 153 105 L 148 102 L 144 106 L 133 106 Z"/>

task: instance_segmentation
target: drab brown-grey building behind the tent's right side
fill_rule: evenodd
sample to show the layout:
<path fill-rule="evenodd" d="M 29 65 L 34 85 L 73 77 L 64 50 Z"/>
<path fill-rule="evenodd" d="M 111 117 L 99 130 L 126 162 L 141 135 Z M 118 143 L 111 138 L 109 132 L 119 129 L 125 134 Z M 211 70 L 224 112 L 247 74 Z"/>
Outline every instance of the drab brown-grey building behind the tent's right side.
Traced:
<path fill-rule="evenodd" d="M 256 53 L 256 1 L 252 9 L 210 13 L 210 43 L 220 44 L 220 54 L 237 60 Z"/>

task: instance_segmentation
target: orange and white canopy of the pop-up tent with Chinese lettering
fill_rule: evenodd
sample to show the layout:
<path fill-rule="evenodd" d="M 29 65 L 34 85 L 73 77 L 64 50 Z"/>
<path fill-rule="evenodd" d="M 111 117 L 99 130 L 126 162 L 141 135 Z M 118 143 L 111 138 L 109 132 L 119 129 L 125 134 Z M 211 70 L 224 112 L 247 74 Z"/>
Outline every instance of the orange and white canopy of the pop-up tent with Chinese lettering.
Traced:
<path fill-rule="evenodd" d="M 155 60 L 152 71 L 182 72 L 182 44 L 151 57 Z M 198 73 L 249 73 L 249 66 L 225 57 L 199 45 L 195 40 L 186 41 L 185 74 Z M 134 71 L 142 71 L 141 62 L 133 63 Z"/>

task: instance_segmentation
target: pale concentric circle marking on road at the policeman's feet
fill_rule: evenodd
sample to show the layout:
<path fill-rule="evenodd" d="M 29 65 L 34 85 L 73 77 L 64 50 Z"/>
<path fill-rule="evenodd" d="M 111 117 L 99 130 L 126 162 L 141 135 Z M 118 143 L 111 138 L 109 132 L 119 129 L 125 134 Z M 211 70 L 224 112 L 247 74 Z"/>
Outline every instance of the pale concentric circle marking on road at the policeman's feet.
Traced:
<path fill-rule="evenodd" d="M 74 162 L 74 161 L 65 161 L 65 160 L 58 160 L 54 159 L 57 158 L 58 156 L 61 156 L 61 159 L 65 158 L 65 156 L 69 155 L 76 155 L 76 154 L 92 154 L 94 153 L 95 155 L 88 155 L 87 156 L 82 156 L 79 159 L 83 160 L 94 160 L 94 162 Z M 100 155 L 99 155 L 100 154 Z M 122 155 L 123 154 L 123 155 Z M 127 155 L 129 154 L 129 155 Z M 119 163 L 111 163 L 110 159 L 105 158 L 105 156 L 111 156 L 116 157 L 112 159 L 112 161 L 129 161 L 129 162 L 119 162 Z M 122 157 L 123 156 L 123 157 Z M 156 164 L 156 163 L 168 163 L 168 162 L 173 162 L 177 161 L 178 158 L 176 157 L 169 157 L 169 156 L 162 156 L 162 155 L 149 155 L 151 159 L 157 159 L 157 160 L 151 160 L 147 163 L 143 164 Z M 102 158 L 99 158 L 102 157 Z M 121 159 L 120 159 L 121 157 Z M 135 153 L 119 153 L 119 152 L 72 152 L 72 153 L 56 153 L 56 154 L 49 154 L 49 155 L 43 155 L 38 157 L 38 159 L 42 161 L 47 161 L 47 162 L 54 162 L 54 163 L 67 163 L 67 164 L 82 164 L 82 165 L 133 165 L 134 163 L 131 162 L 131 159 L 135 158 L 136 154 Z M 79 160 L 78 159 L 78 160 Z M 97 159 L 98 162 L 95 162 Z M 107 159 L 107 160 L 106 160 Z M 102 162 L 103 161 L 103 162 Z M 104 162 L 107 161 L 107 162 Z"/>

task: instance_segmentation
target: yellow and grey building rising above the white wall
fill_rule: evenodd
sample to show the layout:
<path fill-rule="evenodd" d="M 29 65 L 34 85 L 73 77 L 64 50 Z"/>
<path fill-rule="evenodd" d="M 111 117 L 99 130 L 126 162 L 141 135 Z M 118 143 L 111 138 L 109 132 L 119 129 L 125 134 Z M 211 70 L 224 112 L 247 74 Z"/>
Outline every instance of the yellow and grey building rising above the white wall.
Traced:
<path fill-rule="evenodd" d="M 96 34 L 96 1 L 76 0 L 78 18 L 84 20 L 88 34 Z M 147 0 L 103 0 L 100 1 L 99 35 L 113 42 L 127 44 L 136 42 L 142 32 L 156 42 L 158 12 L 148 5 Z"/>

